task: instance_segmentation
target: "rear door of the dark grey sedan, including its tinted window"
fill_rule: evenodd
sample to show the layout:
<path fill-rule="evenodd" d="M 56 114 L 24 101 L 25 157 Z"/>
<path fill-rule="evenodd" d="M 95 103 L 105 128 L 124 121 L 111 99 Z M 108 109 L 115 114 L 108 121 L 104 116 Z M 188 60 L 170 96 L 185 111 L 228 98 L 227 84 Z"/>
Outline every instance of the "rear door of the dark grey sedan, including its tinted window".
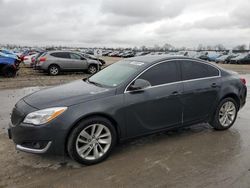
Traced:
<path fill-rule="evenodd" d="M 192 60 L 180 60 L 180 65 L 184 86 L 183 122 L 204 120 L 218 98 L 220 71 L 209 63 Z"/>

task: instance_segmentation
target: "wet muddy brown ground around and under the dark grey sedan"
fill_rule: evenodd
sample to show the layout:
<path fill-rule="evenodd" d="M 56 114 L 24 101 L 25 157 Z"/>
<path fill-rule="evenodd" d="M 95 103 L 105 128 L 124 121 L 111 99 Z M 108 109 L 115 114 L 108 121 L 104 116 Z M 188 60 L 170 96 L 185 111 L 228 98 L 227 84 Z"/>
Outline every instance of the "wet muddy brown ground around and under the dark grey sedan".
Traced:
<path fill-rule="evenodd" d="M 244 77 L 250 88 L 250 75 Z M 12 107 L 39 89 L 0 91 L 0 187 L 250 187 L 249 94 L 230 130 L 199 124 L 147 136 L 118 145 L 101 164 L 82 166 L 17 152 L 8 139 Z"/>

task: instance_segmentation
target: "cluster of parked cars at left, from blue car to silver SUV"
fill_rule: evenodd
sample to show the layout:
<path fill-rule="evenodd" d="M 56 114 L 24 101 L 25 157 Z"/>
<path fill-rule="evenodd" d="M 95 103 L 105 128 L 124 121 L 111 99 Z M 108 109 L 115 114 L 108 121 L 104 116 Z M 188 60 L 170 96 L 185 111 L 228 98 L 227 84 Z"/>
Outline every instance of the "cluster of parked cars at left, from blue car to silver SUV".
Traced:
<path fill-rule="evenodd" d="M 20 63 L 53 76 L 66 71 L 87 71 L 95 74 L 106 64 L 100 58 L 79 51 L 25 50 L 17 55 L 8 50 L 0 50 L 1 75 L 14 77 Z"/>

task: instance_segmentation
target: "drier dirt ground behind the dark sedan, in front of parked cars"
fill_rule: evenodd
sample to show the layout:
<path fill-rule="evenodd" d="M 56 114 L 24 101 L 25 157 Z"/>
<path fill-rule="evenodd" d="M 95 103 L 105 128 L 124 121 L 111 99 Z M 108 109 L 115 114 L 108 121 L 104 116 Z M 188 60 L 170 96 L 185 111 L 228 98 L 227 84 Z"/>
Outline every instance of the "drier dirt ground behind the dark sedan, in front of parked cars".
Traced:
<path fill-rule="evenodd" d="M 103 57 L 107 65 L 120 60 L 120 58 Z M 220 64 L 223 68 L 236 71 L 240 74 L 250 73 L 250 65 L 230 65 Z M 16 78 L 0 77 L 0 89 L 23 88 L 32 86 L 50 86 L 70 82 L 72 80 L 82 79 L 89 76 L 86 73 L 64 73 L 59 76 L 49 76 L 45 73 L 40 73 L 31 68 L 21 66 Z"/>

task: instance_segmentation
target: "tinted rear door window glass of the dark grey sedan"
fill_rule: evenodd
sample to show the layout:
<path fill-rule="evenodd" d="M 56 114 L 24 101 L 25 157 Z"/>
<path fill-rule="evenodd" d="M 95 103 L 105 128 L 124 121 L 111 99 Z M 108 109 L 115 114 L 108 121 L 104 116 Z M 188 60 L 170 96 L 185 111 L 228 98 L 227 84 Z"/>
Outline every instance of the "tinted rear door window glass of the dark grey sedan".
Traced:
<path fill-rule="evenodd" d="M 181 61 L 181 70 L 183 80 L 219 76 L 219 70 L 217 68 L 193 61 Z"/>

